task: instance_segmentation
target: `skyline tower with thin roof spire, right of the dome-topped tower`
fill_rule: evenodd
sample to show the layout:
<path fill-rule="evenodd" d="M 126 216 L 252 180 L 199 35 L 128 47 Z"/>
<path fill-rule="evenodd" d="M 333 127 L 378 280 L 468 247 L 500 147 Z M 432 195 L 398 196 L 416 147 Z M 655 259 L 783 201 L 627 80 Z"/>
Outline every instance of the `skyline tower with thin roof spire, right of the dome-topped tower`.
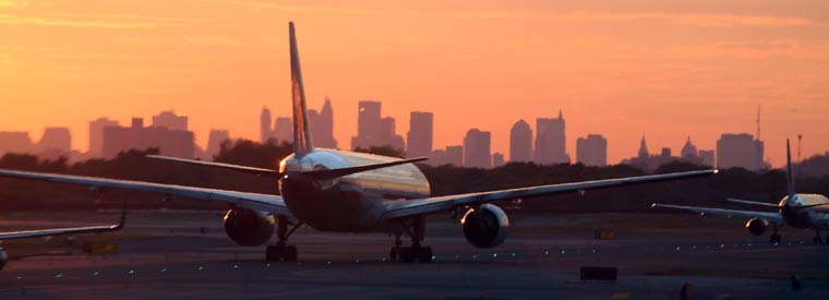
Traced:
<path fill-rule="evenodd" d="M 569 164 L 564 134 L 564 117 L 536 119 L 536 147 L 533 160 L 539 165 Z"/>

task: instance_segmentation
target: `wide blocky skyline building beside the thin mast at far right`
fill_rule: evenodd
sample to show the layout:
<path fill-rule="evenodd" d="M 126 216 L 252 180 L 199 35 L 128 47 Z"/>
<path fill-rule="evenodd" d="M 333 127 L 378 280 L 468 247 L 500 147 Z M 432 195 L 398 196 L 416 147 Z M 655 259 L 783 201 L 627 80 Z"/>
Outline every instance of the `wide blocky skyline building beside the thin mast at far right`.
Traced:
<path fill-rule="evenodd" d="M 723 133 L 717 141 L 717 168 L 740 167 L 752 171 L 767 169 L 762 161 L 764 143 L 748 133 Z"/>

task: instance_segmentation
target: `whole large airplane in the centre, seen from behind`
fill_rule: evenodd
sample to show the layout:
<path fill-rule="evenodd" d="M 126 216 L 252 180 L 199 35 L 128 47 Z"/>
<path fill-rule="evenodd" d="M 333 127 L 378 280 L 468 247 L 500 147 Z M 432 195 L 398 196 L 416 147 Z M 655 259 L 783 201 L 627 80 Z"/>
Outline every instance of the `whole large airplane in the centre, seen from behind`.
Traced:
<path fill-rule="evenodd" d="M 706 177 L 717 170 L 652 175 L 563 184 L 549 184 L 490 192 L 431 196 L 429 180 L 412 163 L 379 155 L 314 147 L 309 128 L 302 72 L 293 22 L 288 25 L 293 115 L 293 154 L 278 169 L 153 156 L 171 164 L 220 168 L 275 179 L 279 195 L 205 189 L 154 182 L 117 180 L 56 173 L 0 170 L 0 177 L 152 191 L 168 196 L 225 202 L 225 231 L 243 247 L 263 245 L 276 233 L 276 244 L 265 250 L 267 261 L 296 261 L 297 248 L 288 238 L 302 225 L 331 232 L 387 232 L 395 236 L 392 261 L 431 262 L 432 249 L 421 245 L 425 216 L 466 213 L 460 218 L 464 236 L 477 248 L 500 245 L 509 220 L 492 202 L 531 199 L 611 187 Z M 411 239 L 401 247 L 401 236 Z"/>

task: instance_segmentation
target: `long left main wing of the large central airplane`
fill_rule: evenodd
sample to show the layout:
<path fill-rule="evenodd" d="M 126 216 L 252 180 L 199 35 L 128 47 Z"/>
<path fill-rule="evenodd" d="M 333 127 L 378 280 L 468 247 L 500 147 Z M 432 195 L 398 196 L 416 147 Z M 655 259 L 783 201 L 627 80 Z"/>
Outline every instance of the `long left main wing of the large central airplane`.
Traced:
<path fill-rule="evenodd" d="M 290 209 L 285 205 L 281 196 L 259 193 L 245 193 L 228 190 L 205 189 L 184 187 L 177 184 L 163 184 L 145 181 L 106 179 L 96 177 L 41 173 L 27 171 L 12 171 L 0 169 L 0 177 L 23 178 L 44 180 L 61 183 L 71 183 L 100 188 L 116 188 L 124 190 L 148 191 L 164 193 L 175 196 L 187 196 L 192 199 L 219 201 L 236 206 L 250 208 L 254 211 L 264 211 L 277 215 L 291 216 Z"/>

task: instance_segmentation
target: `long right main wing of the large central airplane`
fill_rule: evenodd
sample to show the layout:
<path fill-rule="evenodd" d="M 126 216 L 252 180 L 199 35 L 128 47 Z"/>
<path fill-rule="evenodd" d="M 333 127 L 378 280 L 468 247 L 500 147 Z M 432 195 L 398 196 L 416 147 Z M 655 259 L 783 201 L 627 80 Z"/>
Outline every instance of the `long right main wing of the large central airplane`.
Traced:
<path fill-rule="evenodd" d="M 409 201 L 393 201 L 386 202 L 385 213 L 383 217 L 399 218 L 413 215 L 431 214 L 435 212 L 446 212 L 455 207 L 462 205 L 480 205 L 498 200 L 509 199 L 528 199 L 552 194 L 560 194 L 566 192 L 584 192 L 586 190 L 624 187 L 659 181 L 669 181 L 677 179 L 687 179 L 694 177 L 704 177 L 716 173 L 717 170 L 702 170 L 702 171 L 689 171 L 677 172 L 666 175 L 651 175 L 640 177 L 628 177 L 618 179 L 594 180 L 562 184 L 550 185 L 537 185 L 529 188 L 468 193 L 458 195 L 434 196 L 426 199 L 417 199 Z"/>

